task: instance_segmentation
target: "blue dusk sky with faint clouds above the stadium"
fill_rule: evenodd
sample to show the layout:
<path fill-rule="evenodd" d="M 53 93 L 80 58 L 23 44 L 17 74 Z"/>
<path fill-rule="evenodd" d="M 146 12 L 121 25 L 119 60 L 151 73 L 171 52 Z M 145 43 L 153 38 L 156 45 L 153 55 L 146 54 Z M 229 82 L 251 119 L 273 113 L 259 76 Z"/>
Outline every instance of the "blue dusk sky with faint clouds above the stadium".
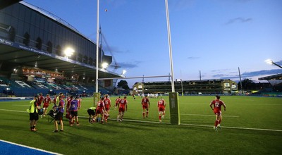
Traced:
<path fill-rule="evenodd" d="M 66 20 L 96 42 L 97 0 L 24 0 Z M 100 0 L 99 24 L 126 77 L 170 73 L 164 0 Z M 281 0 L 168 0 L 174 79 L 259 82 L 282 73 Z M 107 10 L 107 11 L 105 11 Z M 109 51 L 111 49 L 111 52 Z M 168 77 L 149 78 L 167 81 Z M 142 79 L 129 80 L 130 87 Z M 260 81 L 266 82 L 266 81 Z"/>

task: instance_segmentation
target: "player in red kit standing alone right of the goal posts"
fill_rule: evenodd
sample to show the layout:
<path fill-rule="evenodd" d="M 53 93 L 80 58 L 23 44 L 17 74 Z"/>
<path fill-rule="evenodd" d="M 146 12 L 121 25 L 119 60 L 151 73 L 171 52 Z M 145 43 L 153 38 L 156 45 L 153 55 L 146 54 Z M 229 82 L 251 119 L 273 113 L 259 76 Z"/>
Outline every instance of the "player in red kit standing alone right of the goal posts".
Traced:
<path fill-rule="evenodd" d="M 220 96 L 216 95 L 216 99 L 212 100 L 211 104 L 209 106 L 212 108 L 214 111 L 214 114 L 216 114 L 216 121 L 214 123 L 214 130 L 217 131 L 217 127 L 221 128 L 221 120 L 222 120 L 222 115 L 221 115 L 221 106 L 224 107 L 224 111 L 226 111 L 226 105 L 224 104 L 223 101 L 220 100 Z"/>

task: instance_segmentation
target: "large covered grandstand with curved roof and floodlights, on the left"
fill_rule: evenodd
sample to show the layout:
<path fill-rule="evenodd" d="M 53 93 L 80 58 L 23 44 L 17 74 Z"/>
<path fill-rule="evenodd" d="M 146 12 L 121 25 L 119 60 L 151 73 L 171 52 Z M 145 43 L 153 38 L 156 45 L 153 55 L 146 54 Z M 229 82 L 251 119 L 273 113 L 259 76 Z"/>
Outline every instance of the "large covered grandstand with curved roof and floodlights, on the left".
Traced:
<path fill-rule="evenodd" d="M 0 2 L 1 95 L 93 93 L 97 69 L 99 78 L 121 77 L 102 68 L 112 56 L 66 21 L 24 1 Z M 99 81 L 99 92 L 113 91 L 115 82 Z"/>

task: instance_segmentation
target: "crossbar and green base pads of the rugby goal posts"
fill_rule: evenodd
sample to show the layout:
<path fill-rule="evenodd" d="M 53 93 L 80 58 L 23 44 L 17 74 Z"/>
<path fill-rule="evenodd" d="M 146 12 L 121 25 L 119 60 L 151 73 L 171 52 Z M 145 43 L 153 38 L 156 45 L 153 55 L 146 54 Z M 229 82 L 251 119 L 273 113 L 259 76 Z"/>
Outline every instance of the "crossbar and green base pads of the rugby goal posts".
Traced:
<path fill-rule="evenodd" d="M 109 77 L 109 78 L 98 78 L 97 80 L 114 80 L 114 79 L 137 79 L 137 78 L 157 78 L 157 77 L 171 77 L 171 75 L 160 75 L 160 76 L 140 76 L 140 77 Z M 174 81 L 171 81 L 173 83 Z M 98 89 L 98 88 L 97 88 Z M 171 117 L 171 124 L 180 125 L 180 112 L 178 102 L 178 92 L 169 92 L 169 112 Z M 101 94 L 94 92 L 94 106 L 99 101 Z"/>

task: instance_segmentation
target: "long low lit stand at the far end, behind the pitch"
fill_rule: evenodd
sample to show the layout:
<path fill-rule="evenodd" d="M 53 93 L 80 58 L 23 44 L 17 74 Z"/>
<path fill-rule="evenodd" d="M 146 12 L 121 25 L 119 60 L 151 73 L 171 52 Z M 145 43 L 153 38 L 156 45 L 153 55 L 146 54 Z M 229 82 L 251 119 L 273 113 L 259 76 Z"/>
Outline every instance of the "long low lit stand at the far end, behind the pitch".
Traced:
<path fill-rule="evenodd" d="M 175 92 L 179 94 L 233 94 L 238 85 L 232 80 L 180 80 L 175 82 Z M 171 82 L 136 82 L 133 94 L 166 94 L 171 92 Z"/>

